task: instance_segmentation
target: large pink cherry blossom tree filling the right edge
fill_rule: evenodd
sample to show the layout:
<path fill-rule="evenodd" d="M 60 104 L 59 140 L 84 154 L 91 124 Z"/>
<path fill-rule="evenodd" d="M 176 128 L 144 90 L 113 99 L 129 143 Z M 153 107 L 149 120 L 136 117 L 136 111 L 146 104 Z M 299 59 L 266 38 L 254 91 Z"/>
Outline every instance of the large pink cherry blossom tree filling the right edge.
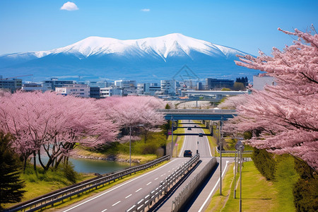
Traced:
<path fill-rule="evenodd" d="M 289 153 L 318 170 L 318 35 L 278 30 L 298 40 L 283 51 L 273 48 L 273 57 L 260 52 L 257 58 L 238 56 L 240 61 L 235 61 L 273 76 L 278 86 L 253 90 L 225 129 L 258 131 L 247 141 L 250 145 Z"/>

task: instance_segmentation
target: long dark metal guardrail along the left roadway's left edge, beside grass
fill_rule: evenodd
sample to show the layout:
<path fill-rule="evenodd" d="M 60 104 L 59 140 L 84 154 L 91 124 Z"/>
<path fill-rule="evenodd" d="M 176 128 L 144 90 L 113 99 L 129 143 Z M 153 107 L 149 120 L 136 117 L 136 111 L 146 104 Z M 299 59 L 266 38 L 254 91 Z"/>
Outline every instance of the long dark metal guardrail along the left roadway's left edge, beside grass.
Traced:
<path fill-rule="evenodd" d="M 161 163 L 165 160 L 169 160 L 170 155 L 165 155 L 161 158 L 158 158 L 156 160 L 153 160 L 149 163 L 143 164 L 143 165 L 137 165 L 135 167 L 128 168 L 126 170 L 122 170 L 119 172 L 115 172 L 112 175 L 107 175 L 104 177 L 99 177 L 98 179 L 94 178 L 91 180 L 86 181 L 85 183 L 79 183 L 76 185 L 73 185 L 71 187 L 66 187 L 66 189 L 63 189 L 62 191 L 59 190 L 54 194 L 51 194 L 49 196 L 43 196 L 43 198 L 37 198 L 34 201 L 28 201 L 26 204 L 19 204 L 16 206 L 13 206 L 11 208 L 6 209 L 5 211 L 37 211 L 41 208 L 44 208 L 46 206 L 54 205 L 55 203 L 59 201 L 63 201 L 64 199 L 71 198 L 72 196 L 76 194 L 81 194 L 83 192 L 89 191 L 90 189 L 97 189 L 98 187 L 102 187 L 107 182 L 115 181 L 116 179 L 125 177 L 126 175 L 131 175 L 132 173 L 139 172 L 141 170 L 146 170 L 149 167 L 153 167 L 153 165 L 157 165 L 158 163 Z"/>

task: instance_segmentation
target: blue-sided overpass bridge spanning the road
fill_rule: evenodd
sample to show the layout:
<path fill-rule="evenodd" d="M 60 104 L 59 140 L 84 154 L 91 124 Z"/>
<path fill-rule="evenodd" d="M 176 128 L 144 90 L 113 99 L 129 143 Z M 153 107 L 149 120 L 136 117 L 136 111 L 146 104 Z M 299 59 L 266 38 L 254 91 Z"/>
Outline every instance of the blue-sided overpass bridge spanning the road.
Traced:
<path fill-rule="evenodd" d="M 193 109 L 165 109 L 162 112 L 166 120 L 213 120 L 225 121 L 237 115 L 236 110 L 193 110 Z"/>

